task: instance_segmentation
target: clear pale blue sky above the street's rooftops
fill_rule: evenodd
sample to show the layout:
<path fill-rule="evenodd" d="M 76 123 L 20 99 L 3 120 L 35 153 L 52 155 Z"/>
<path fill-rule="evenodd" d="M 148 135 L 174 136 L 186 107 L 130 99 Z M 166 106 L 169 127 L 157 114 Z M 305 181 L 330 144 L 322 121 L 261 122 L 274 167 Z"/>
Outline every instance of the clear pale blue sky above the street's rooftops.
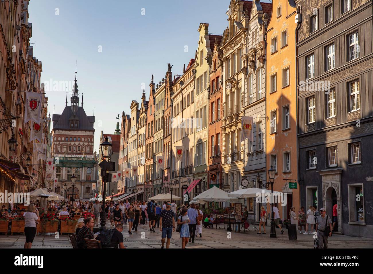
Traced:
<path fill-rule="evenodd" d="M 148 99 L 152 74 L 155 83 L 162 81 L 167 63 L 173 65 L 173 75 L 182 74 L 184 64 L 195 56 L 200 22 L 209 23 L 211 34 L 223 33 L 229 3 L 31 0 L 30 42 L 34 43 L 34 57 L 42 62 L 48 113 L 62 113 L 66 81 L 70 81 L 70 105 L 77 63 L 80 101 L 84 91 L 86 114 L 92 116 L 94 110 L 94 149 L 98 151 L 101 130 L 113 134 L 117 114 L 130 114 L 131 101 L 141 102 L 143 88 Z M 58 88 L 53 88 L 55 81 Z"/>

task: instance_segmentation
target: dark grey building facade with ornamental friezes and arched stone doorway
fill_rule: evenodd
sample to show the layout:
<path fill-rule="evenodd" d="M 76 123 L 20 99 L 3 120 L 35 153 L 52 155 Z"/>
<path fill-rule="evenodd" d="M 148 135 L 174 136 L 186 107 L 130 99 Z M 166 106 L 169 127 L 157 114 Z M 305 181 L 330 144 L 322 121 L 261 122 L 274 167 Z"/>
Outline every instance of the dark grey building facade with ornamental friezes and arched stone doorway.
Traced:
<path fill-rule="evenodd" d="M 372 237 L 372 1 L 295 3 L 301 205 Z"/>

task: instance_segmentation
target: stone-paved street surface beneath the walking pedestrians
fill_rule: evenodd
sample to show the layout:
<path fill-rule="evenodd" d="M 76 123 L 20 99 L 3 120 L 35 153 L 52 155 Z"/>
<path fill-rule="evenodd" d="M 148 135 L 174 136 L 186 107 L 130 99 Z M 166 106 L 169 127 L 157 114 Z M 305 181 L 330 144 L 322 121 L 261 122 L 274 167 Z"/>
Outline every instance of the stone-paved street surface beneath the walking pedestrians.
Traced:
<path fill-rule="evenodd" d="M 110 222 L 106 227 L 110 227 Z M 144 227 L 140 224 L 138 232 L 133 231 L 129 234 L 128 225 L 125 225 L 122 232 L 124 244 L 128 245 L 128 248 L 160 248 L 161 232 L 159 228 L 155 230 L 155 233 L 150 233 L 148 224 Z M 276 238 L 270 238 L 269 231 L 270 228 L 267 227 L 267 234 L 257 234 L 257 231 L 232 232 L 231 239 L 228 239 L 229 235 L 223 227 L 203 228 L 202 237 L 196 235 L 195 243 L 188 243 L 186 248 L 313 248 L 313 236 L 310 234 L 304 235 L 298 232 L 297 240 L 290 241 L 287 230 L 281 235 L 280 230 L 277 229 Z M 24 234 L 0 235 L 0 248 L 23 248 L 24 243 Z M 72 248 L 72 246 L 66 234 L 60 235 L 59 239 L 55 239 L 54 235 L 38 235 L 34 239 L 32 248 Z M 181 248 L 179 233 L 172 233 L 170 248 Z M 329 248 L 373 248 L 373 239 L 334 234 L 329 237 Z"/>

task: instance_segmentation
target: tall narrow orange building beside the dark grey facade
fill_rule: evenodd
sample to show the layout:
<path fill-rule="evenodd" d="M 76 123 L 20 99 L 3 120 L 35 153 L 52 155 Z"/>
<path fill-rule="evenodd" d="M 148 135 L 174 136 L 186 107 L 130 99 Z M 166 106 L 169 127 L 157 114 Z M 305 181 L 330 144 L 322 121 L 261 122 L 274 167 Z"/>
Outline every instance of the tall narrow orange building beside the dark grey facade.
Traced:
<path fill-rule="evenodd" d="M 267 27 L 266 164 L 276 169 L 273 190 L 286 193 L 286 205 L 278 204 L 280 217 L 290 219 L 292 206 L 300 208 L 297 160 L 297 82 L 295 56 L 295 3 L 273 0 Z M 288 180 L 286 180 L 288 179 Z M 297 188 L 292 188 L 297 185 Z"/>

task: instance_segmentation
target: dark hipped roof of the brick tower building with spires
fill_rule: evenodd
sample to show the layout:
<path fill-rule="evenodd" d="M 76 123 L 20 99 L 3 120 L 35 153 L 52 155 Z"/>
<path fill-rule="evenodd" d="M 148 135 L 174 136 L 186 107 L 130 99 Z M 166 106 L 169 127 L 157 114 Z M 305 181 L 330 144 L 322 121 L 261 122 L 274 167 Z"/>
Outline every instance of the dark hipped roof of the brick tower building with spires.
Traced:
<path fill-rule="evenodd" d="M 62 114 L 53 114 L 53 129 L 70 129 L 69 119 L 73 116 L 72 106 L 67 105 L 62 111 Z M 78 129 L 74 130 L 88 130 L 94 131 L 94 116 L 87 116 L 83 107 L 78 107 L 76 111 L 76 120 L 79 120 Z"/>

